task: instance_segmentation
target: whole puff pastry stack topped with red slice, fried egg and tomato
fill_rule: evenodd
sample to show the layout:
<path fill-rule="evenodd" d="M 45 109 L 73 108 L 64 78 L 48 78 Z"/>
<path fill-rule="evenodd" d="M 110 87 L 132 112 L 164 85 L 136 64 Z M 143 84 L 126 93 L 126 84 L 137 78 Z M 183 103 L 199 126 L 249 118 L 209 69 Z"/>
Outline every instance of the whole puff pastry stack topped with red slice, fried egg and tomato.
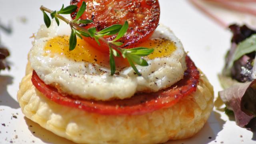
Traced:
<path fill-rule="evenodd" d="M 83 1 L 71 2 L 78 6 L 71 14 L 74 20 Z M 109 24 L 128 22 L 131 27 L 120 43 L 115 43 L 123 44 L 120 52 L 128 50 L 120 53 L 126 57 L 114 58 L 116 69 L 112 74 L 111 53 L 106 52 L 103 41 L 99 41 L 101 50 L 92 42 L 95 36 L 82 36 L 70 51 L 70 26 L 63 22 L 59 26 L 52 22 L 49 28 L 41 26 L 28 54 L 26 76 L 18 91 L 24 115 L 54 134 L 79 144 L 156 144 L 196 134 L 212 112 L 213 88 L 173 32 L 166 26 L 158 26 L 158 1 L 95 2 L 86 1 L 87 9 L 81 17 L 94 21 L 81 26 L 96 27 L 98 32 Z M 104 7 L 100 7 L 102 2 Z M 105 15 L 100 11 L 97 15 L 97 10 L 112 13 Z M 148 18 L 139 15 L 147 11 L 152 12 L 147 14 Z M 130 12 L 145 21 L 130 18 Z M 127 21 L 113 18 L 104 24 L 102 15 L 110 19 L 124 16 Z M 141 24 L 146 28 L 139 27 Z M 104 36 L 110 42 L 115 37 L 117 34 Z M 137 46 L 137 51 L 129 51 L 130 46 Z M 144 56 L 145 51 L 141 51 L 144 47 L 154 52 Z M 132 55 L 135 53 L 139 56 Z M 132 59 L 135 65 L 129 58 L 135 58 Z M 142 63 L 136 63 L 136 58 Z M 144 60 L 147 66 L 142 66 Z"/>

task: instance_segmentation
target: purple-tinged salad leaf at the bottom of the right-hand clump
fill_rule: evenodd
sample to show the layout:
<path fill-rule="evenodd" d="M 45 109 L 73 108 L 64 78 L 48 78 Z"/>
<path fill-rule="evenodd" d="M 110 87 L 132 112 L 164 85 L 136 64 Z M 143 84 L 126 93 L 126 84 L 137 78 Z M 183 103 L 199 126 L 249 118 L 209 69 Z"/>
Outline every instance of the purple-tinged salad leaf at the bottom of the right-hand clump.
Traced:
<path fill-rule="evenodd" d="M 234 112 L 236 124 L 245 127 L 256 114 L 256 80 L 239 83 L 219 92 L 229 110 Z"/>

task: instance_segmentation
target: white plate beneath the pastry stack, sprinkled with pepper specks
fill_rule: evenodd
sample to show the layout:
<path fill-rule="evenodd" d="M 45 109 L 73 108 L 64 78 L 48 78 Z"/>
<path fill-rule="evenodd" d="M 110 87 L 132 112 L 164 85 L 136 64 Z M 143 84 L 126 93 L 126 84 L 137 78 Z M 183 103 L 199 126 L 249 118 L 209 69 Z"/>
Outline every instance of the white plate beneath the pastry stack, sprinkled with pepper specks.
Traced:
<path fill-rule="evenodd" d="M 0 22 L 12 26 L 12 34 L 0 30 L 2 44 L 10 49 L 10 71 L 0 76 L 0 144 L 70 144 L 69 140 L 56 136 L 28 120 L 22 114 L 16 100 L 18 85 L 24 76 L 27 54 L 32 44 L 29 38 L 43 24 L 40 5 L 59 9 L 69 0 L 0 0 Z M 169 26 L 184 44 L 196 66 L 214 86 L 215 97 L 221 90 L 217 74 L 224 65 L 224 54 L 230 47 L 231 34 L 215 24 L 185 0 L 160 0 L 160 22 Z M 24 22 L 24 19 L 25 22 Z M 13 115 L 17 118 L 12 117 Z M 6 124 L 2 126 L 1 124 Z M 223 112 L 214 110 L 204 128 L 196 136 L 170 144 L 253 144 L 256 136 L 236 126 Z"/>

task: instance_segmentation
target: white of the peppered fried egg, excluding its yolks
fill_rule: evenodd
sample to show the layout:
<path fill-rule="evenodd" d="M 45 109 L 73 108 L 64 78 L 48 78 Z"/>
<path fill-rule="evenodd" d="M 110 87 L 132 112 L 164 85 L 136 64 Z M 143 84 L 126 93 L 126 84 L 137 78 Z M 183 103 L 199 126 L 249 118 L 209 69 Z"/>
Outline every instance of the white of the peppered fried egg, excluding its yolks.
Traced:
<path fill-rule="evenodd" d="M 45 56 L 44 47 L 47 41 L 63 35 L 70 35 L 70 27 L 63 22 L 60 26 L 52 22 L 50 28 L 42 25 L 36 34 L 28 59 L 46 84 L 58 84 L 63 92 L 80 98 L 124 99 L 137 92 L 156 92 L 181 80 L 186 70 L 186 53 L 180 40 L 163 25 L 158 26 L 152 38 L 171 40 L 176 50 L 168 57 L 147 60 L 149 66 L 136 66 L 142 76 L 134 74 L 131 67 L 117 70 L 119 75 L 110 76 L 110 68 L 98 64 L 75 62 L 58 54 L 53 58 Z"/>

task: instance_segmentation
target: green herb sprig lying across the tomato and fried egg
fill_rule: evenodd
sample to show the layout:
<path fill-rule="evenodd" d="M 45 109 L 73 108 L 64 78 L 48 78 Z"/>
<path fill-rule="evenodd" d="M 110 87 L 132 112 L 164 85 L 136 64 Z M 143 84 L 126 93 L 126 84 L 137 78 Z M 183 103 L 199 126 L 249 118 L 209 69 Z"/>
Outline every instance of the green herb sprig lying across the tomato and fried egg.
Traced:
<path fill-rule="evenodd" d="M 100 32 L 96 31 L 95 27 L 86 29 L 80 26 L 80 24 L 90 24 L 93 21 L 92 20 L 80 20 L 79 18 L 82 16 L 84 11 L 86 10 L 86 3 L 82 2 L 81 7 L 79 8 L 76 18 L 74 20 L 68 20 L 64 18 L 60 14 L 71 14 L 72 12 L 75 12 L 77 10 L 76 5 L 70 5 L 64 8 L 64 4 L 62 4 L 62 8 L 58 11 L 56 10 L 50 10 L 44 6 L 40 7 L 40 10 L 43 12 L 44 15 L 44 23 L 47 28 L 50 27 L 51 20 L 50 17 L 46 14 L 46 12 L 50 13 L 50 16 L 52 19 L 56 20 L 56 23 L 60 24 L 59 19 L 63 20 L 67 24 L 70 25 L 71 28 L 71 34 L 70 34 L 70 40 L 69 40 L 69 50 L 74 50 L 76 48 L 76 42 L 77 42 L 77 36 L 81 39 L 83 39 L 82 36 L 84 37 L 91 37 L 96 40 L 96 42 L 100 45 L 99 40 L 102 42 L 106 43 L 109 47 L 109 52 L 110 52 L 110 70 L 111 70 L 111 75 L 115 74 L 116 71 L 116 64 L 114 57 L 120 57 L 122 56 L 123 58 L 126 58 L 130 64 L 130 66 L 133 68 L 133 70 L 141 76 L 141 73 L 139 70 L 136 68 L 135 64 L 138 64 L 139 66 L 148 66 L 148 62 L 143 56 L 148 56 L 151 54 L 154 49 L 149 49 L 149 48 L 144 48 L 144 47 L 137 47 L 137 48 L 131 48 L 131 49 L 125 49 L 121 48 L 120 46 L 123 44 L 122 42 L 118 42 L 120 38 L 126 34 L 128 30 L 128 22 L 124 22 L 123 25 L 121 24 L 114 24 L 112 26 L 109 26 Z M 111 35 L 116 35 L 116 38 L 114 40 L 108 41 L 104 38 L 104 36 L 111 36 Z M 120 55 L 121 54 L 121 55 Z"/>

